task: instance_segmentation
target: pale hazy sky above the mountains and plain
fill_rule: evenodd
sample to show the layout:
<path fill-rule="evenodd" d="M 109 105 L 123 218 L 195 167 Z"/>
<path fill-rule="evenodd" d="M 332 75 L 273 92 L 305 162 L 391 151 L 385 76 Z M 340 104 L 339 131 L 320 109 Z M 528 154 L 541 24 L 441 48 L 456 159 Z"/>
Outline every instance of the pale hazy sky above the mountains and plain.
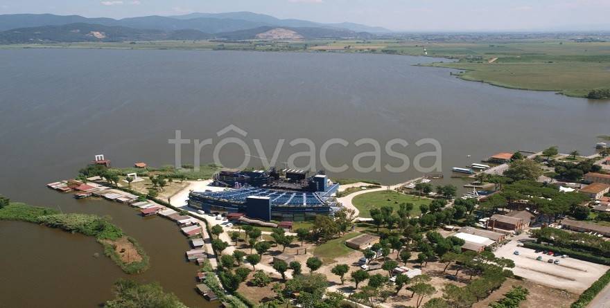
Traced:
<path fill-rule="evenodd" d="M 123 18 L 246 10 L 392 30 L 610 30 L 610 0 L 0 0 L 0 14 Z"/>

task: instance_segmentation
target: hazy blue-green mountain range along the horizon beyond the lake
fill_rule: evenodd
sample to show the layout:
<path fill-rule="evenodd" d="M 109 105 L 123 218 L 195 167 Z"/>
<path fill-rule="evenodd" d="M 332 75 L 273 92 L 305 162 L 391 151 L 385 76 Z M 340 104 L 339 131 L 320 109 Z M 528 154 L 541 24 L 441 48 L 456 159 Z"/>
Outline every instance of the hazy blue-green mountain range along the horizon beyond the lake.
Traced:
<path fill-rule="evenodd" d="M 125 19 L 51 14 L 0 15 L 0 44 L 121 42 L 160 39 L 369 39 L 390 30 L 361 24 L 320 24 L 252 12 L 192 13 Z"/>

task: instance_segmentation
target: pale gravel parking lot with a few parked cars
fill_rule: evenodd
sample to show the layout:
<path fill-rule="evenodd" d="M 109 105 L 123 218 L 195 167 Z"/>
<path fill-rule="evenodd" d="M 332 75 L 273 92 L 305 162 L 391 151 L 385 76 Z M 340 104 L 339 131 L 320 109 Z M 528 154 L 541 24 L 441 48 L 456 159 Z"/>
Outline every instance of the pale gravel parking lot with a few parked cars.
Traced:
<path fill-rule="evenodd" d="M 514 255 L 514 251 L 519 251 L 519 255 Z M 609 266 L 570 257 L 563 259 L 534 253 L 533 249 L 518 247 L 516 241 L 511 241 L 498 248 L 495 255 L 513 260 L 515 267 L 512 271 L 515 275 L 548 287 L 575 293 L 582 293 L 610 269 Z M 539 255 L 542 256 L 541 261 L 536 260 Z M 559 260 L 559 264 L 548 263 L 549 259 Z"/>

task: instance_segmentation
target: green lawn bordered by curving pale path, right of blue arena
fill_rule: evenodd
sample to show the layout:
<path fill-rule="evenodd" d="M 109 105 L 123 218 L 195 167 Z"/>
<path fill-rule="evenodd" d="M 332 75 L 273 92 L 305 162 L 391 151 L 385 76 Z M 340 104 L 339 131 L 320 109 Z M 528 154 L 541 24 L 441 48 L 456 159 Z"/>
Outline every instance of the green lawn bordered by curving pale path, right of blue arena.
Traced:
<path fill-rule="evenodd" d="M 398 210 L 400 203 L 413 203 L 415 206 L 411 211 L 412 216 L 420 214 L 420 204 L 430 204 L 432 200 L 421 198 L 410 194 L 402 194 L 394 190 L 383 190 L 381 192 L 369 192 L 367 194 L 359 194 L 354 197 L 352 203 L 360 210 L 360 217 L 370 218 L 369 210 L 372 208 L 381 208 L 382 206 L 392 206 L 394 211 Z"/>

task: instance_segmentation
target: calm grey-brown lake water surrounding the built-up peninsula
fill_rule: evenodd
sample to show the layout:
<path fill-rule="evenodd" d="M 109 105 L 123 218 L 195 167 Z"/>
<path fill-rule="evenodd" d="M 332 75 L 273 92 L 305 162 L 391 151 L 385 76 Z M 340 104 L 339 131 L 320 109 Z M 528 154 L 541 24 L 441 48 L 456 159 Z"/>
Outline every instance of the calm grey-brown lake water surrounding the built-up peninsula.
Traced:
<path fill-rule="evenodd" d="M 279 162 L 307 150 L 294 138 L 309 138 L 317 150 L 329 138 L 331 165 L 351 161 L 360 138 L 383 145 L 402 138 L 410 158 L 433 150 L 421 138 L 442 145 L 442 170 L 478 162 L 496 152 L 542 150 L 593 154 L 595 136 L 610 134 L 609 102 L 566 98 L 465 82 L 450 70 L 412 66 L 427 57 L 329 53 L 213 51 L 7 50 L 0 51 L 0 193 L 64 212 L 110 215 L 136 237 L 151 257 L 151 268 L 132 276 L 159 281 L 187 305 L 206 305 L 193 287 L 196 266 L 184 262 L 189 248 L 177 227 L 159 218 L 142 219 L 134 210 L 106 201 L 76 201 L 44 184 L 67 179 L 105 154 L 113 165 L 174 161 L 168 145 L 176 129 L 183 138 L 213 138 L 233 124 L 261 161 L 253 139 L 272 156 L 286 144 Z M 212 161 L 204 147 L 202 163 Z M 193 144 L 182 161 L 193 163 Z M 398 146 L 394 150 L 400 150 Z M 471 158 L 467 158 L 471 155 Z M 243 150 L 227 145 L 223 165 L 243 160 Z M 297 163 L 306 165 L 303 159 Z M 362 165 L 371 161 L 363 160 Z M 400 165 L 383 156 L 381 165 Z M 322 168 L 319 158 L 316 168 Z M 419 172 L 352 170 L 331 176 L 396 183 Z M 450 181 L 446 179 L 446 181 Z M 11 266 L 0 276 L 0 307 L 93 307 L 112 297 L 112 282 L 125 277 L 93 239 L 40 226 L 0 222 L 0 260 Z"/>

